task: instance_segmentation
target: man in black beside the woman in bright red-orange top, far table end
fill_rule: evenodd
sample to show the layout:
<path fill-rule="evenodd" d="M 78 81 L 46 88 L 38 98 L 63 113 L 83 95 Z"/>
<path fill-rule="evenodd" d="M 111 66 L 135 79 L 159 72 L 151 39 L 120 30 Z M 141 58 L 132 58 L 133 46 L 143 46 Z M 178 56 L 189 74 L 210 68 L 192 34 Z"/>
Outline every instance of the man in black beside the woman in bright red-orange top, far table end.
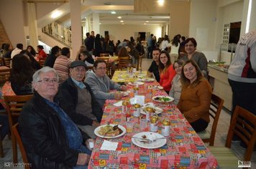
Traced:
<path fill-rule="evenodd" d="M 150 68 L 148 68 L 147 70 L 147 76 L 152 77 L 154 74 L 157 82 L 160 82 L 160 74 L 159 74 L 159 68 L 158 68 L 160 52 L 161 52 L 160 49 L 157 49 L 157 48 L 153 49 L 153 52 L 152 52 L 153 61 L 150 65 Z"/>

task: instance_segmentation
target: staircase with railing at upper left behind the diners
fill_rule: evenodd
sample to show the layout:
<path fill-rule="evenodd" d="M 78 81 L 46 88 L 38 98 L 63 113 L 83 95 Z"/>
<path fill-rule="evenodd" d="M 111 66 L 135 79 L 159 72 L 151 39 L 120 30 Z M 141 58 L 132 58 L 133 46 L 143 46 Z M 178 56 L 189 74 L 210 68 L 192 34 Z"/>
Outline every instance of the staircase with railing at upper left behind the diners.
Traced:
<path fill-rule="evenodd" d="M 52 37 L 56 41 L 65 45 L 66 47 L 71 47 L 71 31 L 66 29 L 63 25 L 53 22 L 47 24 L 42 28 L 42 32 L 47 34 L 49 37 Z"/>

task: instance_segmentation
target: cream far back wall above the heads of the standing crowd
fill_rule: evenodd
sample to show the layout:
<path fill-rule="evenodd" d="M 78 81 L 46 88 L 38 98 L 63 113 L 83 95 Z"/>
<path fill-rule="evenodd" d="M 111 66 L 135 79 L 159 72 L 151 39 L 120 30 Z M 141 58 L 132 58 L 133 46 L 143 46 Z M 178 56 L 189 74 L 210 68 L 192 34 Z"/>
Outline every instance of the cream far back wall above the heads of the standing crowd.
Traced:
<path fill-rule="evenodd" d="M 101 24 L 100 32 L 95 33 L 99 33 L 104 37 L 104 32 L 109 31 L 111 40 L 114 40 L 114 42 L 120 40 L 122 42 L 124 39 L 134 37 L 134 32 L 150 32 L 150 34 L 154 34 L 158 38 L 161 36 L 161 30 L 161 25 Z"/>

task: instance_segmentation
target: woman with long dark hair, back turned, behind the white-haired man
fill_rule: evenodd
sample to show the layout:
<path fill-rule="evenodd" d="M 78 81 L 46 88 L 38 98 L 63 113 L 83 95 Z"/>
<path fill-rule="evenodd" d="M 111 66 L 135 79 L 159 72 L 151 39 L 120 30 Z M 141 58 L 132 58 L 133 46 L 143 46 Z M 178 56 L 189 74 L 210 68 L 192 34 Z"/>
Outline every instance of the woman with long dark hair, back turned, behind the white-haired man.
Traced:
<path fill-rule="evenodd" d="M 32 75 L 35 70 L 25 54 L 16 54 L 12 58 L 12 72 L 10 82 L 12 90 L 16 95 L 31 95 L 32 92 Z"/>

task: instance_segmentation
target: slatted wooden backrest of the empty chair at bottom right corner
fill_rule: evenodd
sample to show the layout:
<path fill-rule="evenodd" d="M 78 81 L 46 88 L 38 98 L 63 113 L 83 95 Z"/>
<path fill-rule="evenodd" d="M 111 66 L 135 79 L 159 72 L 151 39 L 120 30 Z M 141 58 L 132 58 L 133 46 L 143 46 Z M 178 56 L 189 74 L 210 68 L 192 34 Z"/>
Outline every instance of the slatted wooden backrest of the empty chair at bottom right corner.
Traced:
<path fill-rule="evenodd" d="M 252 151 L 256 142 L 256 115 L 245 110 L 242 107 L 236 106 L 232 116 L 229 132 L 227 134 L 226 147 L 231 147 L 232 137 L 236 134 L 247 145 L 247 150 L 244 154 L 244 160 L 250 161 Z"/>

